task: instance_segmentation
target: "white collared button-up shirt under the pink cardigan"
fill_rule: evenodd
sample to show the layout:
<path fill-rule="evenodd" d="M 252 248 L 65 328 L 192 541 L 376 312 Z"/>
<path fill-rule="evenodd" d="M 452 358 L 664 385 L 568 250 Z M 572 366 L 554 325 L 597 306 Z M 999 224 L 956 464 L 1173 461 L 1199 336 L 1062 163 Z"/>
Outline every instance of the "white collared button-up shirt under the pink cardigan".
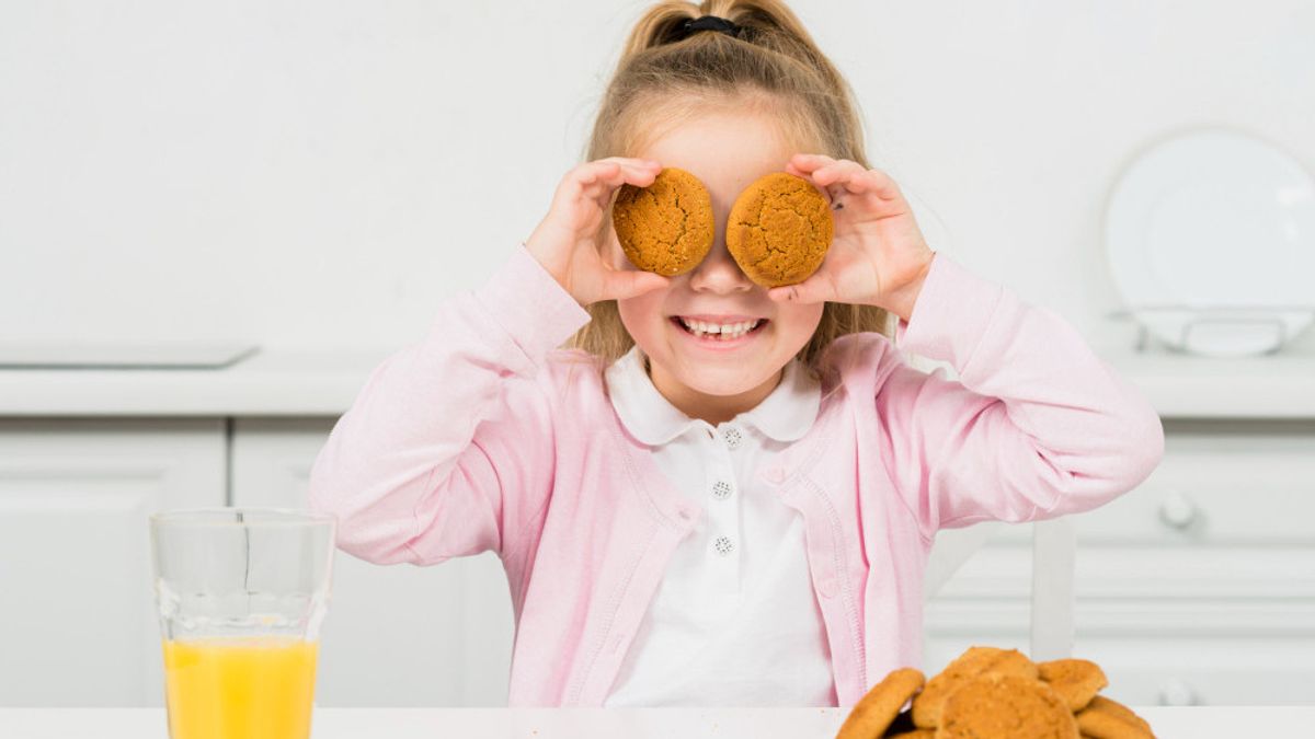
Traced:
<path fill-rule="evenodd" d="M 792 360 L 763 402 L 717 426 L 658 392 L 639 347 L 606 383 L 626 430 L 705 515 L 673 552 L 604 705 L 836 705 L 803 521 L 753 476 L 813 426 L 817 380 Z"/>

